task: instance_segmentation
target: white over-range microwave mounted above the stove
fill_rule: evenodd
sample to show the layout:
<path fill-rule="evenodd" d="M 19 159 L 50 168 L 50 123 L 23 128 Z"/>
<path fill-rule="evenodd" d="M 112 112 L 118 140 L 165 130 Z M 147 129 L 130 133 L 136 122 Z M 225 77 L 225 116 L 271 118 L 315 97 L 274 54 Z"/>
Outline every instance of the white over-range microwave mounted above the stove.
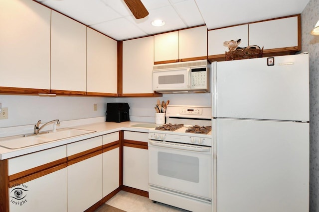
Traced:
<path fill-rule="evenodd" d="M 207 60 L 160 64 L 153 67 L 153 90 L 158 93 L 209 93 Z"/>

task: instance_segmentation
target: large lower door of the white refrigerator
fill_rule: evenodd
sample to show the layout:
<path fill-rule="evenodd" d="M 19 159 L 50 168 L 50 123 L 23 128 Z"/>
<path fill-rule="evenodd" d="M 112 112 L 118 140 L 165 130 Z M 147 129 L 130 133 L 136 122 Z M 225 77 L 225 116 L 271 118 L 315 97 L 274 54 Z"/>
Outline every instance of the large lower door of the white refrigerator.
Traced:
<path fill-rule="evenodd" d="M 217 212 L 309 211 L 309 123 L 214 120 Z"/>

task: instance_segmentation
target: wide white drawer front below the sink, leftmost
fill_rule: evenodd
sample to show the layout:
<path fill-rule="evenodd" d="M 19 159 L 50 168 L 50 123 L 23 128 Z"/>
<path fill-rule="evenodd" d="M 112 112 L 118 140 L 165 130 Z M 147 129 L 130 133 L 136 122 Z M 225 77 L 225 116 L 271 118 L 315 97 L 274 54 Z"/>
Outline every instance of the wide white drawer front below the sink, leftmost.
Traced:
<path fill-rule="evenodd" d="M 8 175 L 66 157 L 66 145 L 8 159 Z M 41 158 L 41 159 L 39 159 Z"/>

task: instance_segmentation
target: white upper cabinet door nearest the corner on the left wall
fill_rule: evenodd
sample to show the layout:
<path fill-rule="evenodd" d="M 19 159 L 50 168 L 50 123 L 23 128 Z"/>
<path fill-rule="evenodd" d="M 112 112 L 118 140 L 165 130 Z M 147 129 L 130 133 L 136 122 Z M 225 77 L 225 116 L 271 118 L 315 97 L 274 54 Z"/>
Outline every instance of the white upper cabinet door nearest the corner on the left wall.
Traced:
<path fill-rule="evenodd" d="M 117 41 L 87 28 L 87 92 L 117 93 Z"/>

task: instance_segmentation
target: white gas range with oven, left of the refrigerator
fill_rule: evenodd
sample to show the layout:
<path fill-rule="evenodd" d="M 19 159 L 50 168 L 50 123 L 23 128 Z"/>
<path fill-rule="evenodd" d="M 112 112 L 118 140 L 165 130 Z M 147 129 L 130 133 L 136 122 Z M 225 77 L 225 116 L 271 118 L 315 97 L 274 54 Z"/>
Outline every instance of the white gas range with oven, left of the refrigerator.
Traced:
<path fill-rule="evenodd" d="M 212 210 L 211 107 L 168 105 L 149 133 L 149 197 L 192 212 Z"/>

